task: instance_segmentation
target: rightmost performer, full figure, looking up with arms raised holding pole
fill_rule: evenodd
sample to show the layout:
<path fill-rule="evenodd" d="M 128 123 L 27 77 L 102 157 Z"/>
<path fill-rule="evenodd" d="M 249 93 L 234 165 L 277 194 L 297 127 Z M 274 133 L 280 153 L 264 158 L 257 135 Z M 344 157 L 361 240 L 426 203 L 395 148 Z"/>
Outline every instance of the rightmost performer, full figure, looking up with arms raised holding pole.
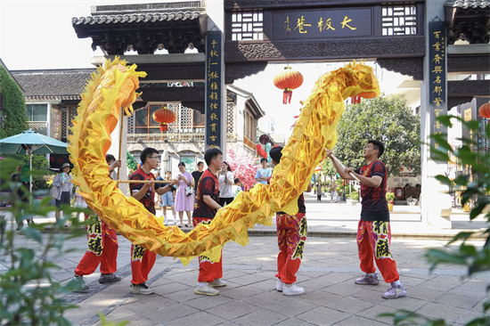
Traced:
<path fill-rule="evenodd" d="M 378 141 L 368 141 L 363 151 L 366 165 L 354 170 L 352 167 L 343 168 L 331 151 L 327 156 L 331 158 L 337 172 L 343 179 L 354 180 L 355 175 L 361 181 L 361 197 L 363 198 L 361 220 L 357 228 L 357 248 L 361 260 L 361 270 L 365 273 L 355 280 L 355 284 L 377 285 L 380 283 L 372 258 L 380 269 L 383 279 L 391 283 L 391 288 L 383 294 L 384 298 L 404 297 L 406 289 L 400 282 L 396 271 L 395 259 L 391 256 L 389 245 L 391 230 L 389 225 L 389 211 L 386 200 L 387 169 L 379 160 L 385 151 L 385 145 Z M 350 175 L 352 174 L 352 175 Z"/>

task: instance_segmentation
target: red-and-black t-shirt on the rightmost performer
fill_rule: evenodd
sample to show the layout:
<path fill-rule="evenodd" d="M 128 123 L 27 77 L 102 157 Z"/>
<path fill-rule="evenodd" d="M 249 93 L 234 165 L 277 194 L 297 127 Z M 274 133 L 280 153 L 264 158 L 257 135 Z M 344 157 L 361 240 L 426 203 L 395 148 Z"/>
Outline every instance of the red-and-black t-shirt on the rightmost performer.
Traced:
<path fill-rule="evenodd" d="M 385 165 L 380 160 L 375 160 L 370 165 L 356 169 L 355 173 L 367 177 L 380 175 L 382 178 L 378 188 L 361 183 L 361 197 L 363 198 L 361 220 L 389 222 L 388 202 L 386 200 L 388 177 Z"/>

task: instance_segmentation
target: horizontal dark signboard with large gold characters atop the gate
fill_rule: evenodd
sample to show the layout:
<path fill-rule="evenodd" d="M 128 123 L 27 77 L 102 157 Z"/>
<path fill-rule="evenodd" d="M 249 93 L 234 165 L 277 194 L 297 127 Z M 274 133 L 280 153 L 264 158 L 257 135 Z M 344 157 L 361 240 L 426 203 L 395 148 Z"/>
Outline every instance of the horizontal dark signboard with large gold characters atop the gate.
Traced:
<path fill-rule="evenodd" d="M 372 8 L 274 12 L 274 39 L 367 37 Z"/>

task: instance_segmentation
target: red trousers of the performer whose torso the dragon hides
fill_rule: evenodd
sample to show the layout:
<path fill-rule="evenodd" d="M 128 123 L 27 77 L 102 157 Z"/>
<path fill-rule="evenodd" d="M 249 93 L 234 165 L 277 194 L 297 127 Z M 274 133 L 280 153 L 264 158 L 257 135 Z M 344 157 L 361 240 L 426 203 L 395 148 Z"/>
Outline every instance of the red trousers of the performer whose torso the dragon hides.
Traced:
<path fill-rule="evenodd" d="M 277 214 L 275 216 L 277 224 L 277 244 L 279 246 L 279 255 L 277 256 L 277 274 L 286 284 L 292 284 L 296 281 L 301 259 L 303 259 L 303 250 L 305 248 L 307 224 L 306 215 L 298 213 L 297 215 Z"/>

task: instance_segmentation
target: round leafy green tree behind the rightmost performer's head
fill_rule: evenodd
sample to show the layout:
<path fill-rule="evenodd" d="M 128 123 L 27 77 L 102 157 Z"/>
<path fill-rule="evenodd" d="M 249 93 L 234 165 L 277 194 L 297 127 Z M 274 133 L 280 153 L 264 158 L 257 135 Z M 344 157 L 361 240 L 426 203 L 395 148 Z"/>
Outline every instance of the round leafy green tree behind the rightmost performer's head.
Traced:
<path fill-rule="evenodd" d="M 414 116 L 398 96 L 381 95 L 348 105 L 337 133 L 333 152 L 347 167 L 363 166 L 363 148 L 368 140 L 374 139 L 385 144 L 381 160 L 388 175 L 398 174 L 400 167 L 421 173 L 421 117 Z"/>

